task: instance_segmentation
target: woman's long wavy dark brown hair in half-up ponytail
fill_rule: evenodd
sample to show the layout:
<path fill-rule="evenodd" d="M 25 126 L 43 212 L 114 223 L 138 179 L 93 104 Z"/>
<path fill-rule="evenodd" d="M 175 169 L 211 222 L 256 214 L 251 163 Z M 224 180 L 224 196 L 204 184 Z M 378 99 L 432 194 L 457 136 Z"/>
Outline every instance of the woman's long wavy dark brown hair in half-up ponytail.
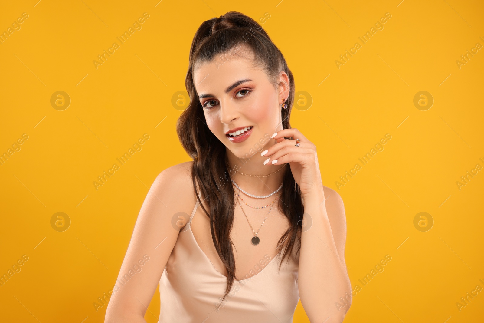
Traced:
<path fill-rule="evenodd" d="M 234 49 L 237 50 L 234 53 Z M 238 50 L 242 48 L 242 50 Z M 190 103 L 177 122 L 177 134 L 185 151 L 193 158 L 192 180 L 195 191 L 200 190 L 202 198 L 206 198 L 209 211 L 201 205 L 205 214 L 210 218 L 212 240 L 227 269 L 227 288 L 221 298 L 222 302 L 233 285 L 235 277 L 235 260 L 230 240 L 233 224 L 235 201 L 234 191 L 229 171 L 226 166 L 226 147 L 213 135 L 206 124 L 202 106 L 197 97 L 193 73 L 194 67 L 200 62 L 212 62 L 217 55 L 231 53 L 232 55 L 253 54 L 255 66 L 260 66 L 277 87 L 281 71 L 289 77 L 289 96 L 286 109 L 282 110 L 283 129 L 290 128 L 289 116 L 294 100 L 294 78 L 287 67 L 281 51 L 272 43 L 267 32 L 257 22 L 237 11 L 229 11 L 219 18 L 204 21 L 192 41 L 190 47 L 188 72 L 185 79 L 186 90 L 190 96 Z M 292 139 L 292 138 L 291 138 Z M 251 157 L 250 154 L 248 156 Z M 301 229 L 303 205 L 301 190 L 294 181 L 290 168 L 286 167 L 283 178 L 282 193 L 279 198 L 278 210 L 284 214 L 290 224 L 289 229 L 278 242 L 277 253 L 284 248 L 282 259 L 291 256 L 297 240 L 298 230 Z M 232 174 L 233 174 L 232 170 Z M 225 184 L 230 185 L 225 185 Z M 197 200 L 201 203 L 200 198 Z M 287 240 L 287 242 L 286 242 Z M 285 243 L 286 242 L 286 243 Z M 283 243 L 285 243 L 283 245 Z M 300 251 L 300 244 L 297 253 Z M 282 261 L 279 263 L 279 270 Z"/>

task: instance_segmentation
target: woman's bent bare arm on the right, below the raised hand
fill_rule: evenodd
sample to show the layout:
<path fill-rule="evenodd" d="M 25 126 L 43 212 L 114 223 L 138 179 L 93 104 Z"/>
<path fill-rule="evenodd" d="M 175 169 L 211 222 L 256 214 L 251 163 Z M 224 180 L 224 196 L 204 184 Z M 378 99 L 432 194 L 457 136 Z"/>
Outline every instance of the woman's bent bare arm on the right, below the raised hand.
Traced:
<path fill-rule="evenodd" d="M 302 306 L 310 322 L 341 323 L 351 306 L 343 200 L 324 186 L 324 191 L 304 199 L 304 217 L 309 217 L 306 221 L 311 227 L 302 232 L 299 261 Z"/>

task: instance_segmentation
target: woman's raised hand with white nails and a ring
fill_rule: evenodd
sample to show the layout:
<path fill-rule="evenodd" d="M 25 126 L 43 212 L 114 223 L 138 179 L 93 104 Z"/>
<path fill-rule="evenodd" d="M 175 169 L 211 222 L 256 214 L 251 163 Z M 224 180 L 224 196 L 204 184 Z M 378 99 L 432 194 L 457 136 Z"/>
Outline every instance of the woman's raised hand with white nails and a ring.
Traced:
<path fill-rule="evenodd" d="M 299 147 L 296 146 L 296 140 L 285 139 L 284 137 L 300 139 Z M 324 196 L 316 146 L 296 128 L 280 130 L 273 138 L 276 139 L 277 143 L 264 154 L 264 156 L 270 156 L 265 165 L 289 163 L 292 176 L 301 188 L 304 199 L 310 195 L 320 196 L 323 194 Z"/>

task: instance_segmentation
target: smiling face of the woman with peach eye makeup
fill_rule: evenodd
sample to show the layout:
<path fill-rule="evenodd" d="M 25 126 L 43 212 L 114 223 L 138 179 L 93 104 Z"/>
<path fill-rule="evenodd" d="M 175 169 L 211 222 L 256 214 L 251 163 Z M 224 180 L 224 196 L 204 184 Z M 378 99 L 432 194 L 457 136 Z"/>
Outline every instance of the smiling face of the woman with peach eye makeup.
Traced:
<path fill-rule="evenodd" d="M 272 134 L 282 129 L 282 99 L 289 95 L 288 86 L 276 90 L 265 72 L 253 67 L 248 57 L 226 56 L 224 60 L 205 62 L 197 65 L 193 74 L 207 126 L 239 158 L 250 158 L 255 151 L 261 151 Z M 288 84 L 284 72 L 281 81 Z M 237 136 L 237 130 L 241 131 L 240 137 L 228 135 Z"/>

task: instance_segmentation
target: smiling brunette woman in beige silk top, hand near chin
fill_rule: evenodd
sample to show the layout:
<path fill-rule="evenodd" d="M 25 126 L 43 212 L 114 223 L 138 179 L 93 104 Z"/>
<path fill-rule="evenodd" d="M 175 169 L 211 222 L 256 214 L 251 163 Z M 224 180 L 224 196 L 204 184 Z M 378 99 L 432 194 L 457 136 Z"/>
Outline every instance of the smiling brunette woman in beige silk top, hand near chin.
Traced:
<path fill-rule="evenodd" d="M 159 322 L 292 322 L 300 298 L 310 322 L 342 322 L 344 206 L 322 185 L 315 145 L 290 127 L 282 53 L 231 11 L 200 25 L 185 85 L 177 133 L 193 162 L 151 186 L 105 322 L 145 322 L 158 282 Z"/>

